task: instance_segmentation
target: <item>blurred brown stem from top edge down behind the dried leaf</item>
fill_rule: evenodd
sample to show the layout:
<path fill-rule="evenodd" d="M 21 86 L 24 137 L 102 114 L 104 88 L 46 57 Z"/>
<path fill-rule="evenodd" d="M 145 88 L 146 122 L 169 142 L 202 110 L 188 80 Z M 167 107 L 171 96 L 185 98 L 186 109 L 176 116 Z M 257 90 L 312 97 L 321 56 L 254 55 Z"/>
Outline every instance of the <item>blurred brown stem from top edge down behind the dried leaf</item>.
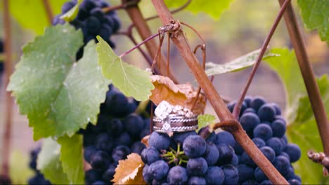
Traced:
<path fill-rule="evenodd" d="M 133 1 L 133 0 L 122 0 L 122 4 L 125 4 L 127 1 Z M 143 18 L 143 15 L 141 14 L 140 9 L 138 8 L 138 5 L 131 5 L 127 6 L 125 8 L 127 11 L 129 18 L 133 22 L 134 26 L 137 29 L 138 34 L 141 36 L 142 40 L 146 40 L 149 36 L 152 35 L 152 32 L 150 31 L 150 27 L 146 24 L 146 20 Z M 155 58 L 157 55 L 157 42 L 155 40 L 150 40 L 146 44 L 146 48 L 148 50 L 148 53 L 150 53 L 150 56 L 152 58 Z M 160 60 L 157 60 L 157 66 L 167 66 L 166 60 L 163 57 L 164 55 L 161 55 Z M 159 69 L 160 74 L 167 74 L 167 69 L 163 67 L 162 69 Z M 169 69 L 169 78 L 174 81 L 174 83 L 178 83 L 176 77 L 172 73 L 172 69 Z"/>

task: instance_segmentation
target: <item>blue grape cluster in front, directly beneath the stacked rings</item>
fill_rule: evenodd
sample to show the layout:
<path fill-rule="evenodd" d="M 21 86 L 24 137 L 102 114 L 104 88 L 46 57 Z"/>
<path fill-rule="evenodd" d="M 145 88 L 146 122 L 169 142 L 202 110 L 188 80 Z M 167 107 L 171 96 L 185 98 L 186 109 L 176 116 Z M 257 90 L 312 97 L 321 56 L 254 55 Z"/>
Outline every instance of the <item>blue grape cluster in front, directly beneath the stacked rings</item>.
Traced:
<path fill-rule="evenodd" d="M 238 156 L 214 132 L 205 139 L 195 131 L 174 132 L 172 137 L 153 132 L 148 144 L 141 153 L 148 184 L 238 183 Z"/>

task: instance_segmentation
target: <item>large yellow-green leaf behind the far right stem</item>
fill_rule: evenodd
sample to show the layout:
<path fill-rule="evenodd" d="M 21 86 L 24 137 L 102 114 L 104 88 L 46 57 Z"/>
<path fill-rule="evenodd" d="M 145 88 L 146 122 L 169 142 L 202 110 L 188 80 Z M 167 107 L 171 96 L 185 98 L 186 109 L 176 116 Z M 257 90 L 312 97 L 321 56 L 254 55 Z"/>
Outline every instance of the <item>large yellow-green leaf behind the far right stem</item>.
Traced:
<path fill-rule="evenodd" d="M 287 136 L 289 142 L 298 144 L 302 150 L 302 157 L 293 164 L 295 172 L 302 177 L 303 184 L 328 184 L 329 180 L 322 176 L 321 165 L 307 158 L 307 151 L 310 149 L 314 151 L 323 151 L 323 149 L 295 54 L 288 49 L 273 49 L 271 52 L 280 54 L 280 57 L 271 58 L 266 62 L 280 76 L 285 86 L 288 98 L 285 111 L 285 116 L 288 118 Z M 329 117 L 328 78 L 322 76 L 317 82 Z"/>

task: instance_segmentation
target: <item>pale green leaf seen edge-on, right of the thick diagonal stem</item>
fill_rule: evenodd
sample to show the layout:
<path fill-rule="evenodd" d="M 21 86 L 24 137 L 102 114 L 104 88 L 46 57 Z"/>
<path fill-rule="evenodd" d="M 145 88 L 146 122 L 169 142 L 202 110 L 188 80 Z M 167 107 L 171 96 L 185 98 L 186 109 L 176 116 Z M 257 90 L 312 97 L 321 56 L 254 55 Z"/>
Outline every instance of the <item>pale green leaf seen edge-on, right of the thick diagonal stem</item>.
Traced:
<path fill-rule="evenodd" d="M 207 76 L 212 76 L 216 74 L 240 71 L 247 67 L 251 67 L 256 62 L 259 52 L 260 50 L 254 50 L 225 64 L 214 64 L 212 62 L 207 62 L 205 73 L 207 74 Z M 276 56 L 278 55 L 266 51 L 263 56 L 263 60 Z"/>

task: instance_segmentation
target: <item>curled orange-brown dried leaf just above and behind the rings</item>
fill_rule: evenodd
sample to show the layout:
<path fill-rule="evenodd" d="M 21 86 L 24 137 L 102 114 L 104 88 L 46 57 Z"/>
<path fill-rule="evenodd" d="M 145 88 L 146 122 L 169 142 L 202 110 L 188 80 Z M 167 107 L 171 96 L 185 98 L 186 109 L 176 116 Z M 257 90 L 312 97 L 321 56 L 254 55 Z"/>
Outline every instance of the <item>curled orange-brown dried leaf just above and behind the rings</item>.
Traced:
<path fill-rule="evenodd" d="M 193 90 L 190 83 L 175 84 L 166 76 L 153 75 L 151 76 L 152 83 L 155 89 L 152 90 L 150 100 L 155 104 L 160 104 L 163 100 L 172 105 L 180 105 L 191 109 L 198 95 L 197 90 Z M 194 114 L 202 114 L 205 109 L 205 95 L 200 93 L 198 102 L 193 109 Z"/>

